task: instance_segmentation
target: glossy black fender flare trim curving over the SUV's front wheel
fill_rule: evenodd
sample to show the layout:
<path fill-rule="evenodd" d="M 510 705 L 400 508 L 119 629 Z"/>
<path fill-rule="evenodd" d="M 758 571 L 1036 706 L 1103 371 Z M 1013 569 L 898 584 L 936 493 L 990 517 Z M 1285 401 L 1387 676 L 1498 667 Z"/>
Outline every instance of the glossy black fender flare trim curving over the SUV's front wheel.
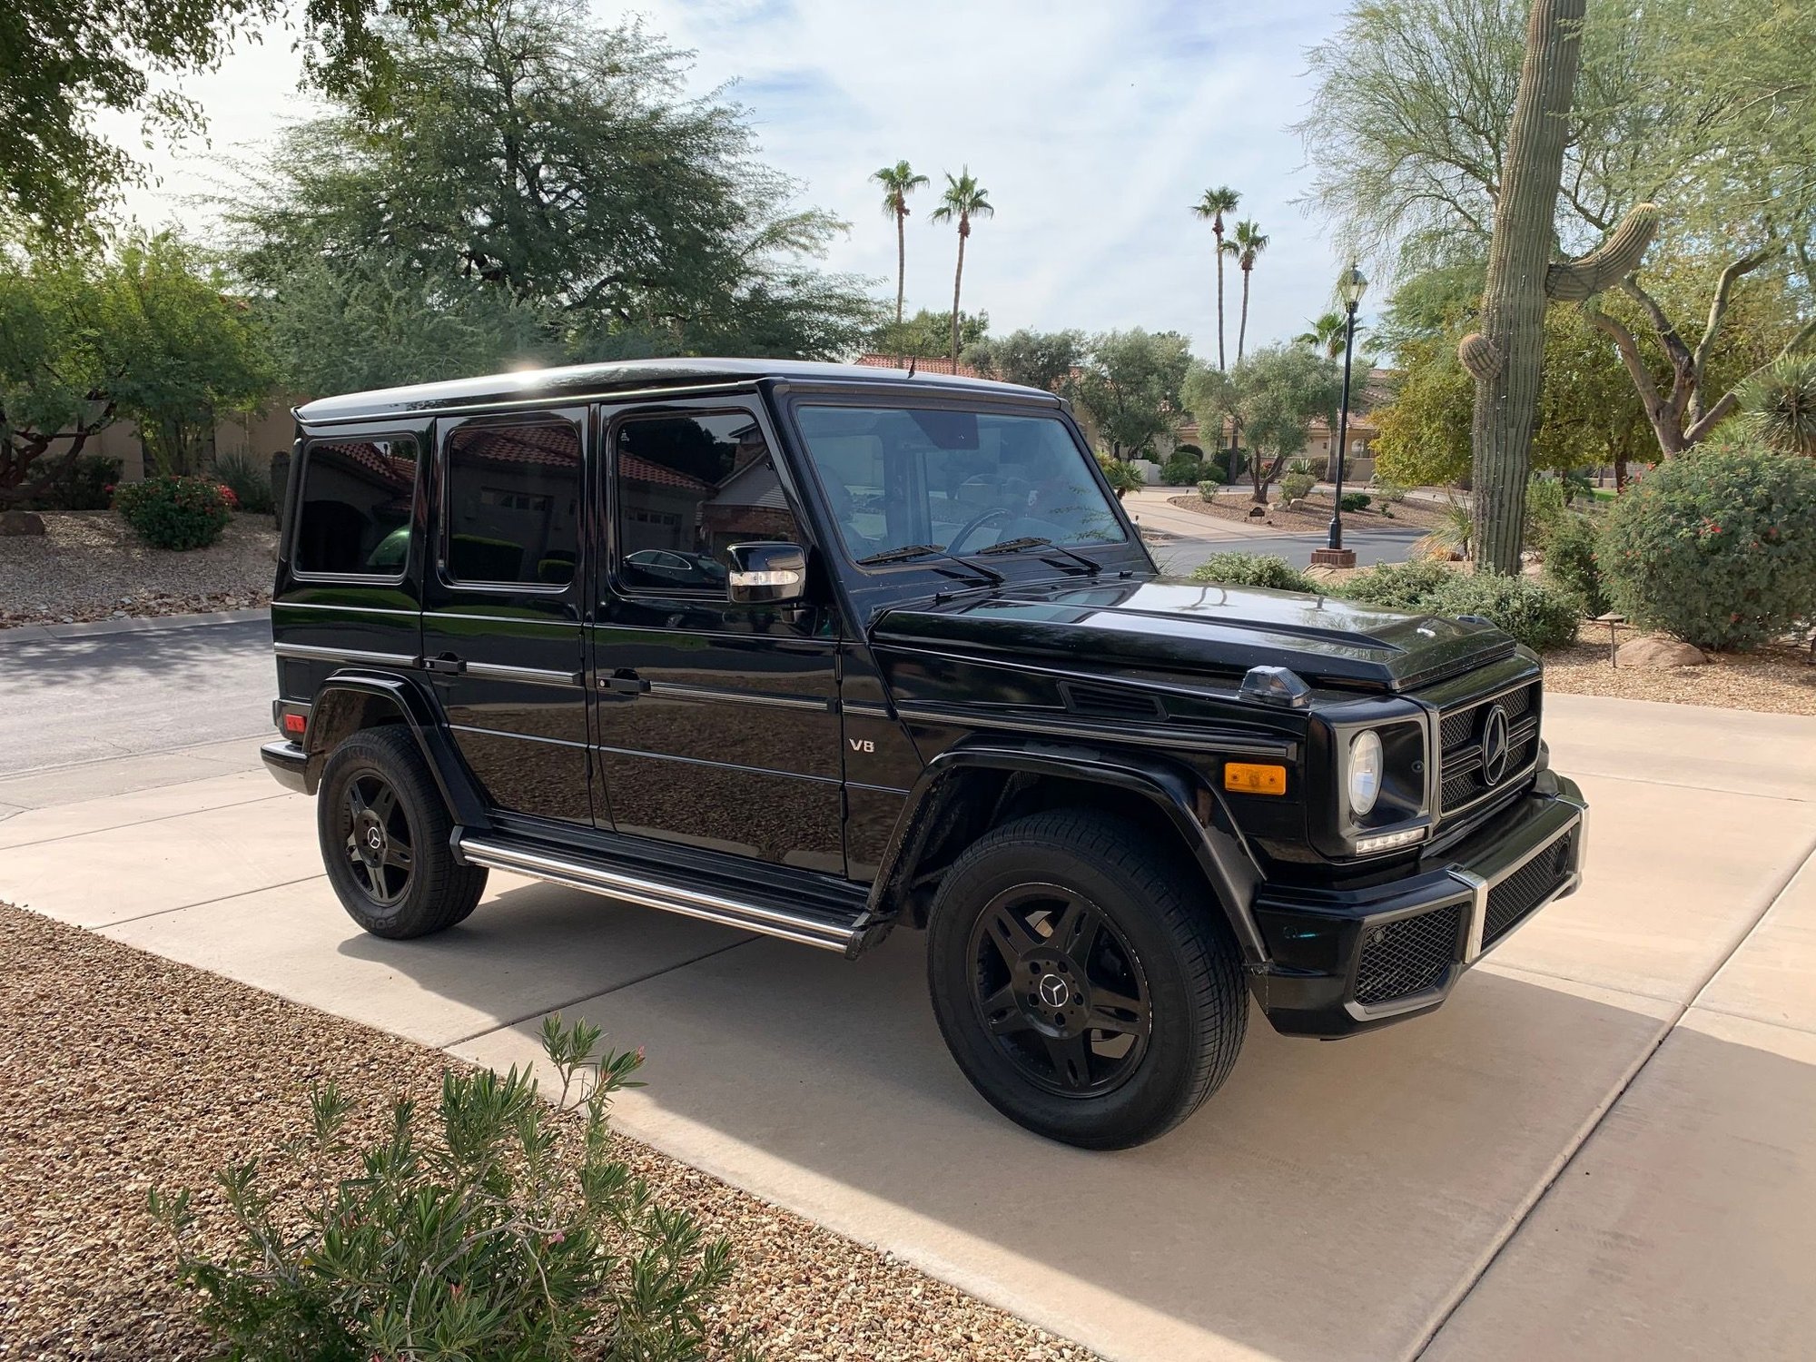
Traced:
<path fill-rule="evenodd" d="M 1248 964 L 1266 962 L 1266 946 L 1249 906 L 1262 879 L 1255 854 L 1229 815 L 1222 794 L 1199 772 L 1162 755 L 1106 752 L 1066 743 L 986 739 L 948 748 L 921 772 L 870 892 L 877 915 L 895 915 L 906 899 L 915 866 L 941 817 L 952 806 L 968 770 L 1051 775 L 1128 790 L 1151 803 L 1179 832 L 1209 884 Z"/>

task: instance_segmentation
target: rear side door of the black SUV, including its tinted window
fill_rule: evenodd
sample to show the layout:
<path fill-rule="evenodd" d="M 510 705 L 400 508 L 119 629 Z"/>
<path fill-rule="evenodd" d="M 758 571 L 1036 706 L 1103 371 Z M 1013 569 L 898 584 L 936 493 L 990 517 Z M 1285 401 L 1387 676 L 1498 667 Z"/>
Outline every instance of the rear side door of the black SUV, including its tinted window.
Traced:
<path fill-rule="evenodd" d="M 487 801 L 592 821 L 581 654 L 585 410 L 439 421 L 423 665 Z"/>

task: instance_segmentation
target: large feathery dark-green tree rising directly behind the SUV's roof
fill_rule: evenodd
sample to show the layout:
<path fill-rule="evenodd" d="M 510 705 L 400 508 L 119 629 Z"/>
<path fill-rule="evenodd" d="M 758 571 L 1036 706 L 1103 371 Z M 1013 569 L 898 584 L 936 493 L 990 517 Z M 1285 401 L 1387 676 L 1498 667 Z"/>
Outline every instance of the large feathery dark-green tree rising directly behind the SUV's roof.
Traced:
<path fill-rule="evenodd" d="M 685 98 L 683 54 L 641 27 L 474 0 L 390 51 L 383 116 L 298 125 L 223 205 L 252 292 L 281 305 L 329 269 L 474 318 L 503 291 L 574 358 L 830 358 L 873 325 L 861 281 L 812 269 L 843 223 L 790 209 L 743 114 Z"/>

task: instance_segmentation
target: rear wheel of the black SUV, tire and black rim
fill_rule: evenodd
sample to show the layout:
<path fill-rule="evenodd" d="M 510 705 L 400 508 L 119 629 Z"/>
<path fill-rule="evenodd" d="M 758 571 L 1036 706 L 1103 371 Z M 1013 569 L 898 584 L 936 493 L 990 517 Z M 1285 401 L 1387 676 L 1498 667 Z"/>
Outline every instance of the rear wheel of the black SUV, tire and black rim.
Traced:
<path fill-rule="evenodd" d="M 321 863 L 347 915 L 374 937 L 425 937 L 478 906 L 485 868 L 454 861 L 452 830 L 401 726 L 361 728 L 329 754 L 316 792 Z"/>

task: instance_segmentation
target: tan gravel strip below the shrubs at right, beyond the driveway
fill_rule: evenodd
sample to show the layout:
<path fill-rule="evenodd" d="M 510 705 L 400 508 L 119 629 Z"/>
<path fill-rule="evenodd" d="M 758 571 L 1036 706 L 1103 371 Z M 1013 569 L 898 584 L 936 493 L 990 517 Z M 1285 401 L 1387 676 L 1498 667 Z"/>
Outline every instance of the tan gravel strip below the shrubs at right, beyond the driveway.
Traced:
<path fill-rule="evenodd" d="M 1616 641 L 1638 636 L 1638 630 L 1620 627 Z M 1816 714 L 1816 666 L 1811 666 L 1807 646 L 1711 652 L 1707 666 L 1614 668 L 1607 665 L 1607 625 L 1584 625 L 1574 646 L 1545 654 L 1545 690 L 1656 699 L 1667 705 L 1714 705 L 1723 710 Z"/>

